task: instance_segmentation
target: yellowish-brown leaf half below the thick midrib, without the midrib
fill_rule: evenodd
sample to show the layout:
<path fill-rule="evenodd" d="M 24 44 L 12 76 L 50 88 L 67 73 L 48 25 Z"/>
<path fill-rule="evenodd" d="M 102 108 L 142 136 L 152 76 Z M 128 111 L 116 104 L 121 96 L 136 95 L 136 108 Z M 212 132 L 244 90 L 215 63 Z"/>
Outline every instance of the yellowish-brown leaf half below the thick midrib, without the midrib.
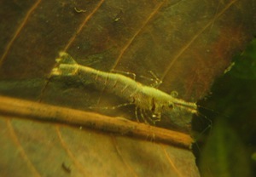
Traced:
<path fill-rule="evenodd" d="M 1 125 L 3 176 L 198 176 L 189 150 L 16 117 Z"/>

